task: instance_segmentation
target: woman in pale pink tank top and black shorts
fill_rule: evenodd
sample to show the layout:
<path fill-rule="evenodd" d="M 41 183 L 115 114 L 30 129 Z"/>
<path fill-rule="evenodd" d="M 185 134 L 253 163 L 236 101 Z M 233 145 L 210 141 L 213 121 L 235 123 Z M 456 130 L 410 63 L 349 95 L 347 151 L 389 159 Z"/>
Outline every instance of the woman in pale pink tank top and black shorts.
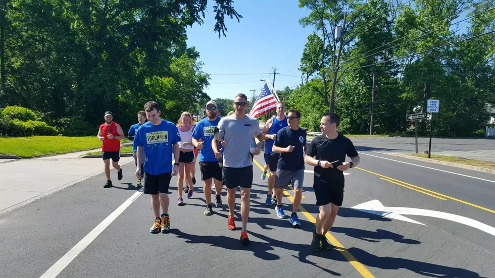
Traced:
<path fill-rule="evenodd" d="M 192 193 L 194 193 L 191 178 L 191 170 L 194 163 L 194 145 L 192 144 L 192 131 L 194 127 L 191 125 L 191 121 L 192 116 L 189 112 L 183 112 L 177 122 L 177 129 L 179 130 L 179 135 L 182 139 L 179 142 L 179 178 L 177 179 L 177 193 L 179 195 L 177 205 L 179 206 L 184 205 L 184 200 L 182 199 L 184 179 L 186 182 L 184 192 L 187 193 L 187 198 L 191 198 Z"/>

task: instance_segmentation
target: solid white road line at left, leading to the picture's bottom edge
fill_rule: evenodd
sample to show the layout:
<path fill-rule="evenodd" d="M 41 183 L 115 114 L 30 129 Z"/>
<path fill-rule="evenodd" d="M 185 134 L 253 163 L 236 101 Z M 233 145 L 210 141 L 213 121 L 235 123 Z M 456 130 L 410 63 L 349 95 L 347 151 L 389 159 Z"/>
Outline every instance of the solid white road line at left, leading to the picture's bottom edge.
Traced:
<path fill-rule="evenodd" d="M 55 278 L 62 272 L 98 235 L 100 235 L 107 227 L 143 192 L 140 188 L 136 193 L 132 194 L 125 202 L 123 202 L 114 212 L 105 218 L 102 223 L 98 224 L 89 234 L 87 234 L 80 242 L 72 247 L 62 258 L 60 258 L 52 267 L 48 268 L 40 278 Z"/>

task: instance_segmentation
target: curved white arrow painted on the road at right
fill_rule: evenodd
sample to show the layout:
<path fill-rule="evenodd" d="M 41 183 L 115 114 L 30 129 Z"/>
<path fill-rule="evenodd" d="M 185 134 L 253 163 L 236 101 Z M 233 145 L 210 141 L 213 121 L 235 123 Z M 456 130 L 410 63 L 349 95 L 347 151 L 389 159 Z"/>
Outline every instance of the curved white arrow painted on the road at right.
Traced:
<path fill-rule="evenodd" d="M 435 217 L 435 218 L 440 218 L 440 219 L 445 219 L 445 220 L 450 220 L 454 221 L 460 224 L 464 224 L 470 227 L 473 227 L 475 229 L 478 229 L 480 231 L 483 231 L 485 233 L 488 233 L 492 236 L 495 236 L 495 228 L 488 226 L 486 224 L 481 223 L 480 221 L 452 214 L 452 213 L 447 213 L 447 212 L 442 212 L 442 211 L 436 211 L 436 210 L 429 210 L 429 209 L 421 209 L 421 208 L 412 208 L 412 207 L 385 207 L 383 204 L 378 201 L 378 200 L 373 200 L 369 201 L 366 203 L 362 203 L 356 206 L 351 207 L 356 210 L 360 210 L 363 212 L 371 213 L 371 214 L 376 214 L 376 215 L 381 215 L 383 217 L 387 218 L 392 218 L 392 219 L 398 219 L 398 220 L 403 220 L 411 223 L 416 223 L 416 224 L 421 224 L 418 221 L 415 221 L 413 219 L 407 218 L 401 214 L 406 214 L 406 215 L 419 215 L 419 216 L 429 216 L 429 217 Z"/>

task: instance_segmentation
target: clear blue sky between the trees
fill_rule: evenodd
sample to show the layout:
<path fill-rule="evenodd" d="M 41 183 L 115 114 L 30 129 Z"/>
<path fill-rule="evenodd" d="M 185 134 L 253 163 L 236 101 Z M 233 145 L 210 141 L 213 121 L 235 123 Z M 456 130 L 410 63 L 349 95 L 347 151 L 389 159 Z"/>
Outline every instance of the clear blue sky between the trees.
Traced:
<path fill-rule="evenodd" d="M 280 73 L 275 89 L 301 83 L 298 67 L 313 28 L 299 24 L 309 11 L 299 8 L 298 0 L 235 1 L 233 6 L 243 18 L 239 23 L 226 19 L 227 37 L 220 39 L 213 32 L 214 1 L 209 2 L 205 24 L 187 29 L 187 45 L 196 47 L 205 63 L 203 70 L 211 74 L 206 89 L 211 98 L 233 98 L 238 93 L 251 96 L 253 89 L 258 94 L 263 86 L 260 80 L 273 79 L 273 67 Z"/>

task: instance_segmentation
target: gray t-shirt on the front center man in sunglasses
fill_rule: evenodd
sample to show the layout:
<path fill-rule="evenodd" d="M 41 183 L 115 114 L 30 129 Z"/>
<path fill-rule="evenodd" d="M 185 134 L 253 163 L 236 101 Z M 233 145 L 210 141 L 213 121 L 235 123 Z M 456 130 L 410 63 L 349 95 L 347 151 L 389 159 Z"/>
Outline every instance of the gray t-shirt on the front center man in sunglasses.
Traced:
<path fill-rule="evenodd" d="M 249 149 L 253 136 L 261 133 L 258 120 L 247 115 L 244 119 L 231 115 L 220 120 L 218 129 L 220 138 L 225 139 L 223 165 L 232 168 L 253 165 Z"/>

